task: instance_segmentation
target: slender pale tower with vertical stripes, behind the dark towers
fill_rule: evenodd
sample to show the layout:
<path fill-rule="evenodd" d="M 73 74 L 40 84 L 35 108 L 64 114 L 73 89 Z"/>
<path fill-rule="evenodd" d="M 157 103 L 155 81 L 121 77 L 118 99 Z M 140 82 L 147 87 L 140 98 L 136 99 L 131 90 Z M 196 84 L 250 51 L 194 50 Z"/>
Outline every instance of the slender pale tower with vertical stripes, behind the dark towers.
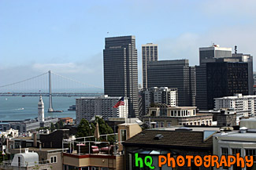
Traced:
<path fill-rule="evenodd" d="M 143 58 L 143 89 L 147 89 L 147 69 L 150 61 L 158 60 L 158 45 L 147 43 L 142 45 L 142 58 Z"/>

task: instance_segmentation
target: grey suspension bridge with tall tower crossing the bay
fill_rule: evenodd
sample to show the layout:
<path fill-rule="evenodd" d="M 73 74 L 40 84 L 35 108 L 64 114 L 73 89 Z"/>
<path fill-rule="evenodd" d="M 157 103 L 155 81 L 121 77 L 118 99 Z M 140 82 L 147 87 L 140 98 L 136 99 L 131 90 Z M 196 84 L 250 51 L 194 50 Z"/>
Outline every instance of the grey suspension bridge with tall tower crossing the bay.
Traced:
<path fill-rule="evenodd" d="M 52 76 L 54 76 L 54 78 L 52 78 Z M 53 92 L 53 86 L 58 92 Z M 99 92 L 92 92 L 95 91 L 95 89 L 98 89 Z M 102 87 L 76 81 L 52 71 L 47 71 L 46 73 L 39 74 L 32 78 L 0 86 L 0 96 L 48 96 L 48 112 L 54 112 L 53 96 L 102 96 L 102 92 Z"/>

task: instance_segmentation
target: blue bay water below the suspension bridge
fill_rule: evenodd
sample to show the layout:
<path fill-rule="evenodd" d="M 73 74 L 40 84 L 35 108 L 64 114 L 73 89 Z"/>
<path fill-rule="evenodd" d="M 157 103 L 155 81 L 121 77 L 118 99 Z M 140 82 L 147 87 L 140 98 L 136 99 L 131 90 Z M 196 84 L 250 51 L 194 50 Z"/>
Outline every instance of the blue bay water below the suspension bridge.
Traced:
<path fill-rule="evenodd" d="M 47 113 L 49 98 L 43 97 L 45 117 L 52 118 L 76 118 L 76 111 L 70 111 L 69 106 L 76 104 L 78 97 L 53 97 L 54 110 L 63 110 L 63 112 Z M 37 118 L 39 96 L 9 96 L 0 97 L 0 121 L 14 121 L 28 118 Z M 24 108 L 24 110 L 22 110 Z"/>

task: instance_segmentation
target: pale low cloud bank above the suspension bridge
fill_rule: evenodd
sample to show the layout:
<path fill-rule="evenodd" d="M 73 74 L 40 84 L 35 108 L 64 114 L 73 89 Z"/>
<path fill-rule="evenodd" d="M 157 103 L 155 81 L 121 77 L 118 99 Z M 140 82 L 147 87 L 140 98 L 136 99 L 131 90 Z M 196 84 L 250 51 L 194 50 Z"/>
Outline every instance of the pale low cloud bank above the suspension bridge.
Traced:
<path fill-rule="evenodd" d="M 13 67 L 1 66 L 0 86 L 32 78 L 39 74 L 46 73 L 47 71 L 53 71 L 54 73 L 60 74 L 65 78 L 71 78 L 72 80 L 80 81 L 88 85 L 102 87 L 102 67 L 101 53 L 98 53 L 95 56 L 91 56 L 87 60 L 80 62 L 32 63 L 30 65 L 20 65 Z"/>

